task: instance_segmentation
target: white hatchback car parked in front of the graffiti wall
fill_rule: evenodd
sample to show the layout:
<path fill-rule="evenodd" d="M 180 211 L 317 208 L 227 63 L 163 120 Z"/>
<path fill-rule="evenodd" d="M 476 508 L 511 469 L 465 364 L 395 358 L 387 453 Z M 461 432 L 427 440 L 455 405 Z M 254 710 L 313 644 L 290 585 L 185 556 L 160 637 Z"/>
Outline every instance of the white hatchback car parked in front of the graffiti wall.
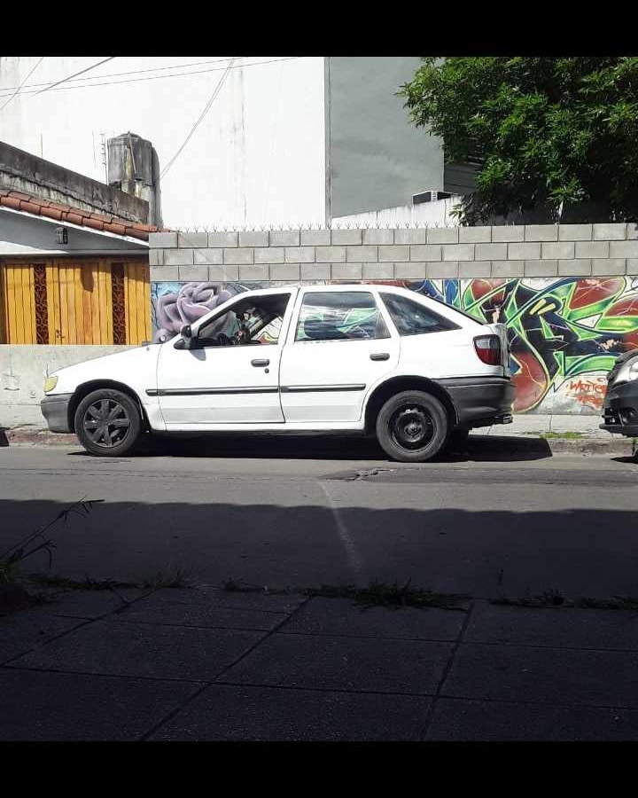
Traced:
<path fill-rule="evenodd" d="M 247 291 L 171 340 L 47 378 L 52 432 L 120 456 L 144 432 L 376 434 L 423 462 L 474 426 L 511 421 L 504 325 L 407 289 L 291 286 Z"/>

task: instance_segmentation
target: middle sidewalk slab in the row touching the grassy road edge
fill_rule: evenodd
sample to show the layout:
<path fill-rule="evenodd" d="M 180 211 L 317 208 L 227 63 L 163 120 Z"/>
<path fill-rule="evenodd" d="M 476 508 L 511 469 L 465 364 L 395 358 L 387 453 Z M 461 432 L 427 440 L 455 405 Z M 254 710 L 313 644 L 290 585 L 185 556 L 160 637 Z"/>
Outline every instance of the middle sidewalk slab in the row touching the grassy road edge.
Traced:
<path fill-rule="evenodd" d="M 348 599 L 310 599 L 280 633 L 346 635 L 354 638 L 455 640 L 463 626 L 462 611 L 437 607 L 363 608 Z"/>

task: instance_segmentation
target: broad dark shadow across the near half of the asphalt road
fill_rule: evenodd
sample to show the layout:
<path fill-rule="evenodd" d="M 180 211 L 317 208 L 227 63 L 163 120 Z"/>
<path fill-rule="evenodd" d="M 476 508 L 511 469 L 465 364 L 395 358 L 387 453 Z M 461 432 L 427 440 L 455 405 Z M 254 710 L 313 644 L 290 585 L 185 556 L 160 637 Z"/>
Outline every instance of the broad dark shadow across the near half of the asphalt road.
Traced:
<path fill-rule="evenodd" d="M 179 491 L 171 489 L 174 496 Z M 232 579 L 318 587 L 377 579 L 475 598 L 550 590 L 572 598 L 638 595 L 638 512 L 630 510 L 377 509 L 362 506 L 367 489 L 350 494 L 358 497 L 350 499 L 356 506 L 342 498 L 337 516 L 330 505 L 301 495 L 296 502 L 282 496 L 286 505 L 148 503 L 110 502 L 108 492 L 101 492 L 97 475 L 88 498 L 105 497 L 105 503 L 47 532 L 56 544 L 53 573 L 138 583 L 173 567 L 194 583 L 216 585 Z M 67 506 L 0 501 L 0 550 Z M 46 552 L 24 564 L 27 573 L 47 568 Z"/>

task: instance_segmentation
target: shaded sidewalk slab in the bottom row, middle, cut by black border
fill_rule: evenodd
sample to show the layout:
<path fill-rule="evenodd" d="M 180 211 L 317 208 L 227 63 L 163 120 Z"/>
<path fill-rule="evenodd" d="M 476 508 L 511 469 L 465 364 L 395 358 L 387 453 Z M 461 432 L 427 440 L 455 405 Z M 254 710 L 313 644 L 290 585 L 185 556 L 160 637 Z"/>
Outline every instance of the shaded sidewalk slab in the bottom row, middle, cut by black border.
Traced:
<path fill-rule="evenodd" d="M 418 739 L 420 696 L 212 685 L 151 739 Z"/>

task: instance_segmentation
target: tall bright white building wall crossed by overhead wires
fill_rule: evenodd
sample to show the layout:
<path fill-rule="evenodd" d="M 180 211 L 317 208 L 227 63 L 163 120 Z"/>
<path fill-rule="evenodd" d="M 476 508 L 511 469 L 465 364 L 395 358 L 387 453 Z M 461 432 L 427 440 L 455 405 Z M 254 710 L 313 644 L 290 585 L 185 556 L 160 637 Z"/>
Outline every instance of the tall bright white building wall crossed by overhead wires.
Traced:
<path fill-rule="evenodd" d="M 108 138 L 130 130 L 152 141 L 164 168 L 228 66 L 215 56 L 118 57 L 35 94 L 103 58 L 44 58 L 0 113 L 0 140 L 104 180 L 100 133 Z M 0 58 L 0 106 L 38 60 Z M 162 178 L 167 226 L 323 223 L 323 58 L 258 63 L 267 60 L 236 61 L 245 66 L 230 70 L 204 121 Z M 193 66 L 159 71 L 184 64 Z"/>

